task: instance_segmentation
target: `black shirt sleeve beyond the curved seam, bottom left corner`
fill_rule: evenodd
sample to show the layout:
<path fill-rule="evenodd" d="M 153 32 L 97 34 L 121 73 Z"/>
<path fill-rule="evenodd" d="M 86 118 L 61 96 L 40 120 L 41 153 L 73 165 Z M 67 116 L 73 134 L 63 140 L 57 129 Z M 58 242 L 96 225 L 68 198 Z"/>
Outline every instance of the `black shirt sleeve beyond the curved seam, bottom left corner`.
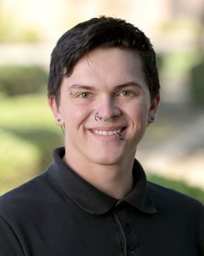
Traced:
<path fill-rule="evenodd" d="M 18 237 L 7 221 L 0 216 L 0 256 L 24 255 Z"/>

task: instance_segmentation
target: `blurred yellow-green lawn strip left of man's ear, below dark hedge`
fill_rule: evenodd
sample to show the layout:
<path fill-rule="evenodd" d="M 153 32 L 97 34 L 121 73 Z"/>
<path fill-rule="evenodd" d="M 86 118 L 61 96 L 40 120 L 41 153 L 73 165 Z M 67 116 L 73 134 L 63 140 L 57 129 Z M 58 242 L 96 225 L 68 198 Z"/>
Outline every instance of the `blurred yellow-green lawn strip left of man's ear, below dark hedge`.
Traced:
<path fill-rule="evenodd" d="M 5 130 L 53 129 L 53 116 L 45 95 L 18 95 L 0 101 L 1 127 Z"/>

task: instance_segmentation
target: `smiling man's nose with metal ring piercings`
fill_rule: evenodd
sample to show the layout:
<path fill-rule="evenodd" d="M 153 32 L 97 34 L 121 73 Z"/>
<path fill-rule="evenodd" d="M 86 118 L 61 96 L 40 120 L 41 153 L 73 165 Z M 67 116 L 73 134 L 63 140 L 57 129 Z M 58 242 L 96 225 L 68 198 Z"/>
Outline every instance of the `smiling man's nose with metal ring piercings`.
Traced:
<path fill-rule="evenodd" d="M 97 104 L 96 112 L 106 120 L 113 119 L 121 115 L 121 110 L 110 96 L 105 96 Z"/>

